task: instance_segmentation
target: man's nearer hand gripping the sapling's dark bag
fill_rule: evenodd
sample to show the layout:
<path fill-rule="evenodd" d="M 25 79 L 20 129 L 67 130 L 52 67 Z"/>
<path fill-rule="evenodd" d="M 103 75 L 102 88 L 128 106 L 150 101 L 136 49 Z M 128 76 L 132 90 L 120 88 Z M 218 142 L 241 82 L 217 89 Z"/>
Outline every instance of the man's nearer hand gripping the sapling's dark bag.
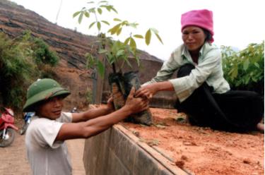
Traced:
<path fill-rule="evenodd" d="M 131 87 L 130 94 L 128 95 L 126 99 L 126 103 L 124 107 L 129 108 L 131 113 L 138 113 L 140 111 L 143 111 L 145 109 L 148 109 L 148 99 L 142 98 L 142 97 L 134 97 L 135 94 L 135 88 Z"/>

